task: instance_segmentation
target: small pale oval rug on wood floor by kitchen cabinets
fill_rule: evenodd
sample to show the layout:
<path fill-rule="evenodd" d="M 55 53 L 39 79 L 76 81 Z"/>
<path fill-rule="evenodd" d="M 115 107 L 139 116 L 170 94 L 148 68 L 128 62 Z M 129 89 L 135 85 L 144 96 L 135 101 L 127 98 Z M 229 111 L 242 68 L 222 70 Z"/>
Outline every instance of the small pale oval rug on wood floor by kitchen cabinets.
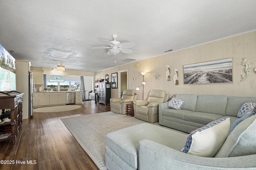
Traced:
<path fill-rule="evenodd" d="M 80 107 L 81 106 L 78 106 L 78 105 L 40 107 L 40 108 L 34 109 L 34 112 L 40 112 L 40 113 L 61 112 L 61 111 L 70 111 L 74 109 L 79 109 Z"/>

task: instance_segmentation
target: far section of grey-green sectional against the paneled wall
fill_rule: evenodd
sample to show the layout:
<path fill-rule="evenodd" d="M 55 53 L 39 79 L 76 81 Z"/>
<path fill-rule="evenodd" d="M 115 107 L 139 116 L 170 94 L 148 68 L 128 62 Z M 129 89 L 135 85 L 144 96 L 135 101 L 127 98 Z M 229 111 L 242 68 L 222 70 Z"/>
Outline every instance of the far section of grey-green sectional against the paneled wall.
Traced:
<path fill-rule="evenodd" d="M 186 101 L 185 104 L 180 110 L 170 109 L 168 102 L 159 104 L 159 124 L 187 133 L 221 118 L 230 117 L 232 125 L 244 102 L 256 102 L 254 97 L 224 95 L 176 94 L 174 97 Z"/>

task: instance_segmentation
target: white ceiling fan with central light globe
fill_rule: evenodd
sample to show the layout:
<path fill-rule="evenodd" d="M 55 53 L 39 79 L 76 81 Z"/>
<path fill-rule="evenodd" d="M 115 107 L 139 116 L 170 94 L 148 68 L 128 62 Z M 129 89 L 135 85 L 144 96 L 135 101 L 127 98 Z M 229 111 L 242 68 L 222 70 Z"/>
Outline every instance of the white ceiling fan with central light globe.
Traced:
<path fill-rule="evenodd" d="M 134 51 L 132 48 L 135 46 L 134 43 L 132 42 L 125 42 L 125 43 L 120 43 L 119 41 L 116 41 L 116 34 L 112 35 L 112 38 L 114 39 L 113 41 L 108 41 L 108 40 L 101 40 L 103 43 L 110 45 L 110 47 L 93 47 L 92 49 L 109 49 L 108 50 L 108 55 L 117 55 L 118 53 L 122 52 L 122 53 L 126 53 L 126 54 L 131 54 Z"/>

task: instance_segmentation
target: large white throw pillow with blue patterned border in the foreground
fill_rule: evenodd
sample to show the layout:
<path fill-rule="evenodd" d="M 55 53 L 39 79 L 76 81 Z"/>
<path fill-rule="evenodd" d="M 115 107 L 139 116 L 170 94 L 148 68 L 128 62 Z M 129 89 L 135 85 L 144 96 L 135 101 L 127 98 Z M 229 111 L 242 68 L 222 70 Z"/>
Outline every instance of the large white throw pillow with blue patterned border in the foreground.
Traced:
<path fill-rule="evenodd" d="M 214 157 L 228 137 L 230 118 L 219 119 L 192 131 L 181 152 L 201 157 Z"/>

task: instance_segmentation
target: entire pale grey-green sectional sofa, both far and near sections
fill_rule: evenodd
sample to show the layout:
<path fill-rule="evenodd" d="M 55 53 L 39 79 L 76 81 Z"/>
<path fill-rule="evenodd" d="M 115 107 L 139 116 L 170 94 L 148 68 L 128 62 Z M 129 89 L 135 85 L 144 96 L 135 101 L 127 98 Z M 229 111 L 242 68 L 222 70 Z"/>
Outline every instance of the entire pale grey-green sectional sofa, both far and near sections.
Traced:
<path fill-rule="evenodd" d="M 160 104 L 162 106 L 159 108 L 161 121 L 159 123 L 185 132 L 193 131 L 220 118 L 226 118 L 228 121 L 230 118 L 232 125 L 244 102 L 256 102 L 256 98 L 222 95 L 177 94 L 175 97 L 186 100 L 186 103 L 180 111 L 166 108 L 167 103 Z M 229 124 L 226 127 L 229 127 Z M 217 135 L 216 140 L 218 141 L 220 137 L 222 135 Z M 214 157 L 194 156 L 181 152 L 187 138 L 186 133 L 150 123 L 114 131 L 106 135 L 106 168 L 108 170 L 256 170 L 256 115 L 240 122 L 226 136 Z M 208 140 L 204 140 L 203 143 L 208 143 Z"/>

